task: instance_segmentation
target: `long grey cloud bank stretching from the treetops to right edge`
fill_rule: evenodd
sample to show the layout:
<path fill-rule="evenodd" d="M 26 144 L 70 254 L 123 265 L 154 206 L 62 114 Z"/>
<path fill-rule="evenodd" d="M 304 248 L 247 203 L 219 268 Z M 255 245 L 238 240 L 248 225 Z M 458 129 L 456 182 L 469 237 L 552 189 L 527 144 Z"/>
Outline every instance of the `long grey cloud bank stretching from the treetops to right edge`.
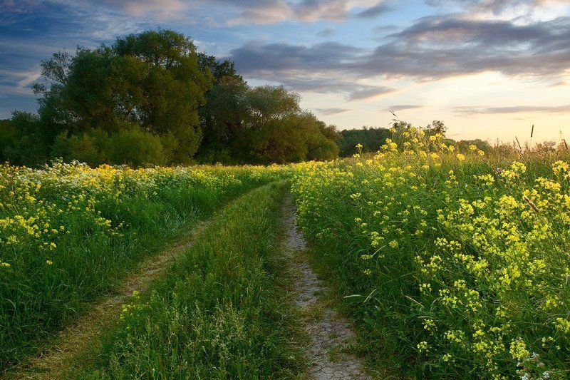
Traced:
<path fill-rule="evenodd" d="M 570 68 L 570 17 L 518 25 L 512 21 L 426 17 L 372 49 L 342 43 L 313 46 L 248 43 L 232 51 L 239 71 L 311 78 L 327 73 L 358 80 L 377 76 L 429 81 L 494 71 L 559 78 Z M 354 93 L 350 98 L 359 98 Z"/>

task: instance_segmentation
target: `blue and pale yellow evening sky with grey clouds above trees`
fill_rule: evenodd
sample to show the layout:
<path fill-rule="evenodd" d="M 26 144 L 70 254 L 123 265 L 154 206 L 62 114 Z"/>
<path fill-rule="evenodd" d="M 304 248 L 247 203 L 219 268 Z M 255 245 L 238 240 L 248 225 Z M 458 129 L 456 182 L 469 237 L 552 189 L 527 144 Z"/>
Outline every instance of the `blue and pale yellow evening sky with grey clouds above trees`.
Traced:
<path fill-rule="evenodd" d="M 157 28 L 338 129 L 393 111 L 457 140 L 570 140 L 570 0 L 0 0 L 0 118 L 36 110 L 52 53 Z"/>

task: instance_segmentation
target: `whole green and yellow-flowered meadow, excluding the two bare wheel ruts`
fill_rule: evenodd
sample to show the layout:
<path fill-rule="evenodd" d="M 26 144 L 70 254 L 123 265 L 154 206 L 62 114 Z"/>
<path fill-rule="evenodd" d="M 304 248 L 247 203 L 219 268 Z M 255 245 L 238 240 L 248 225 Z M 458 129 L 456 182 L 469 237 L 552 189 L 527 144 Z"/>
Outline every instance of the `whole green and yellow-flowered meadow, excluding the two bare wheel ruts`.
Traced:
<path fill-rule="evenodd" d="M 325 297 L 355 327 L 370 374 L 567 379 L 568 160 L 566 150 L 460 151 L 403 128 L 377 153 L 324 163 L 4 165 L 0 369 L 50 344 L 137 262 L 209 217 L 73 376 L 302 376 L 306 337 L 279 248 L 291 191 L 333 289 Z"/>

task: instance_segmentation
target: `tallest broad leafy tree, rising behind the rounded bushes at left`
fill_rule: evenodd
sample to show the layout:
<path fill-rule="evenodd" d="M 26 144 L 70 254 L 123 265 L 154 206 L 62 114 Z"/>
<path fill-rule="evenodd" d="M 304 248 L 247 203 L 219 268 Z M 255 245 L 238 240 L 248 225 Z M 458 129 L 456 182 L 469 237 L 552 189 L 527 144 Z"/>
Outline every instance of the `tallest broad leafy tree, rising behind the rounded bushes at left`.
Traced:
<path fill-rule="evenodd" d="M 46 143 L 63 130 L 113 135 L 135 128 L 174 139 L 173 163 L 190 162 L 199 147 L 198 110 L 213 76 L 182 34 L 145 31 L 118 38 L 113 46 L 78 48 L 75 56 L 56 53 L 42 63 L 42 73 L 36 92 Z"/>

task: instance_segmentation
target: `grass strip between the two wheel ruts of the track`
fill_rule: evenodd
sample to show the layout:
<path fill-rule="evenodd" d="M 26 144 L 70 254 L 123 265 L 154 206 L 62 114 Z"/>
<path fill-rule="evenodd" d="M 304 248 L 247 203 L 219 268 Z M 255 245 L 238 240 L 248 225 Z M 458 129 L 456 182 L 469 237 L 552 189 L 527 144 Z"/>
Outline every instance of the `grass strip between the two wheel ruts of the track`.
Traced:
<path fill-rule="evenodd" d="M 299 323 L 279 286 L 281 201 L 266 185 L 232 202 L 104 339 L 97 379 L 272 379 L 302 371 Z"/>

